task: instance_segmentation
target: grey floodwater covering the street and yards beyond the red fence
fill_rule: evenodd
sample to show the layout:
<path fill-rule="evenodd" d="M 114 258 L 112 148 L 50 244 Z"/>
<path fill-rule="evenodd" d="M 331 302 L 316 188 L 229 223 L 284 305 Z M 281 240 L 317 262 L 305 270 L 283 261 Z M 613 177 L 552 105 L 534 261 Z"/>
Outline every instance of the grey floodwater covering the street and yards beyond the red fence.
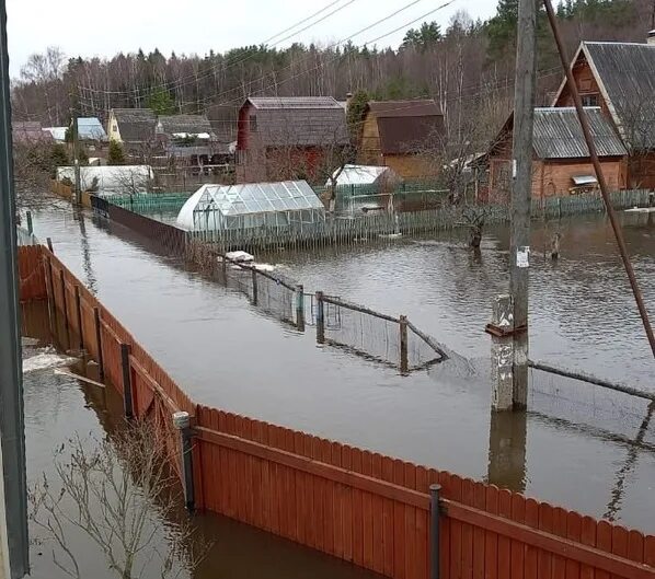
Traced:
<path fill-rule="evenodd" d="M 625 222 L 655 311 L 655 225 Z M 299 333 L 245 297 L 70 208 L 34 216 L 35 232 L 197 402 L 491 480 L 541 500 L 655 531 L 655 424 L 645 402 L 540 372 L 528 413 L 490 409 L 493 296 L 507 287 L 507 233 L 479 256 L 458 234 L 257 256 L 304 285 L 406 314 L 457 354 L 402 377 Z M 562 258 L 542 248 L 563 234 Z M 531 358 L 652 384 L 655 363 L 605 218 L 535 224 Z"/>

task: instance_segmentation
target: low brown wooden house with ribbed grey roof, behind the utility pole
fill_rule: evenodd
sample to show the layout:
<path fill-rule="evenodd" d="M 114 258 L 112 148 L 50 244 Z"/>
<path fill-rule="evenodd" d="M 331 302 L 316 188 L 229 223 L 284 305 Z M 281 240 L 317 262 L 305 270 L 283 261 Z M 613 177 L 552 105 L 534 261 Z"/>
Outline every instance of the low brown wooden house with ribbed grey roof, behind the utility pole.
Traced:
<path fill-rule="evenodd" d="M 611 190 L 624 189 L 628 152 L 600 107 L 587 107 L 586 113 L 607 183 Z M 514 115 L 510 115 L 486 158 L 487 200 L 491 202 L 507 202 L 509 199 L 513 129 Z M 533 198 L 571 195 L 597 187 L 589 149 L 575 108 L 536 108 L 532 143 Z"/>

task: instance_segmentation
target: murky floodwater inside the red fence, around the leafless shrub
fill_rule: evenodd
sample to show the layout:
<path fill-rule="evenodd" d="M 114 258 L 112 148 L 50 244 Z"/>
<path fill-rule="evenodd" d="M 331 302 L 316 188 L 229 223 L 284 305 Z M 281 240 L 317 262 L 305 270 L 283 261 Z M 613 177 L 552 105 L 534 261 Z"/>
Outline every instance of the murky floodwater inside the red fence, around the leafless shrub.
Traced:
<path fill-rule="evenodd" d="M 23 308 L 23 383 L 25 392 L 25 437 L 28 485 L 43 479 L 44 474 L 53 488 L 58 488 L 54 460 L 71 438 L 79 437 L 92 444 L 111 435 L 122 418 L 122 401 L 112 389 L 90 385 L 70 374 L 89 378 L 93 368 L 87 367 L 74 354 L 66 354 L 74 346 L 74 336 L 64 327 L 53 335 L 45 303 Z M 66 451 L 61 454 L 66 456 Z M 73 512 L 72 510 L 70 511 Z M 161 529 L 174 529 L 186 514 L 169 513 L 173 520 L 163 520 L 161 513 L 151 513 L 152 522 Z M 193 518 L 196 526 L 194 546 L 208 545 L 206 557 L 189 575 L 193 579 L 231 577 L 234 579 L 376 579 L 376 574 L 301 547 L 289 541 L 257 531 L 245 524 L 214 514 Z M 65 536 L 80 566 L 83 577 L 110 579 L 102 551 L 84 534 L 65 525 Z M 53 563 L 51 545 L 43 542 L 44 533 L 31 525 L 31 577 L 34 579 L 64 579 L 64 571 Z M 173 533 L 170 533 L 171 535 Z M 165 536 L 154 546 L 165 548 Z M 66 557 L 59 560 L 68 563 Z M 143 579 L 158 579 L 157 567 L 146 567 Z"/>

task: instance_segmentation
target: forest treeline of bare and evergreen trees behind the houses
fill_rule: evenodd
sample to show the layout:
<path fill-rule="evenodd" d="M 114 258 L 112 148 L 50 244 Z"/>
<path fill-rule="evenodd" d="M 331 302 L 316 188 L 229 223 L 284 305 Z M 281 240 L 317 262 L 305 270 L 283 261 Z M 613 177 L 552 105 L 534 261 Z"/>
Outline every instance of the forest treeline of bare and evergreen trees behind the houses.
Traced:
<path fill-rule="evenodd" d="M 475 149 L 493 137 L 510 111 L 517 3 L 499 0 L 487 21 L 460 11 L 443 28 L 425 22 L 397 48 L 379 48 L 383 39 L 346 40 L 246 46 L 204 56 L 139 50 L 106 59 L 67 58 L 48 48 L 32 55 L 14 81 L 13 115 L 62 126 L 71 113 L 104 121 L 113 107 L 150 106 L 160 114 L 206 114 L 217 134 L 230 140 L 238 107 L 249 95 L 343 100 L 364 90 L 377 100 L 434 97 L 446 116 L 449 140 L 459 149 L 462 142 Z M 655 27 L 653 0 L 563 0 L 558 15 L 570 54 L 582 39 L 645 42 Z M 381 16 L 371 13 L 371 23 Z M 562 73 L 543 13 L 538 60 L 537 104 L 545 104 Z"/>

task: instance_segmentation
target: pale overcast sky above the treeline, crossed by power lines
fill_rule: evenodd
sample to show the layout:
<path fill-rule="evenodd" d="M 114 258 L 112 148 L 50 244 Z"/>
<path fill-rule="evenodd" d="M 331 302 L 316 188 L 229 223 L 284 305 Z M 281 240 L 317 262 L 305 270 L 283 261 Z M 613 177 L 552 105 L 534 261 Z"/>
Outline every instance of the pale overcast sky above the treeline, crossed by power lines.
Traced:
<path fill-rule="evenodd" d="M 261 44 L 292 24 L 328 7 L 335 0 L 8 0 L 9 55 L 12 77 L 33 53 L 47 46 L 60 47 L 67 56 L 113 56 L 142 48 L 159 48 L 165 56 L 204 55 L 214 49 Z M 347 38 L 368 24 L 415 2 L 374 28 L 353 38 L 364 44 L 382 36 L 436 9 L 446 0 L 337 0 L 303 25 L 273 39 L 269 44 L 318 21 L 304 32 L 280 43 L 321 43 L 329 45 Z M 443 26 L 458 10 L 476 19 L 495 12 L 495 0 L 455 0 L 425 20 Z M 343 10 L 336 11 L 340 7 Z M 420 24 L 418 21 L 417 24 Z M 416 26 L 416 24 L 414 24 Z M 406 28 L 404 28 L 406 30 Z M 378 46 L 398 46 L 404 33 L 380 39 Z"/>

